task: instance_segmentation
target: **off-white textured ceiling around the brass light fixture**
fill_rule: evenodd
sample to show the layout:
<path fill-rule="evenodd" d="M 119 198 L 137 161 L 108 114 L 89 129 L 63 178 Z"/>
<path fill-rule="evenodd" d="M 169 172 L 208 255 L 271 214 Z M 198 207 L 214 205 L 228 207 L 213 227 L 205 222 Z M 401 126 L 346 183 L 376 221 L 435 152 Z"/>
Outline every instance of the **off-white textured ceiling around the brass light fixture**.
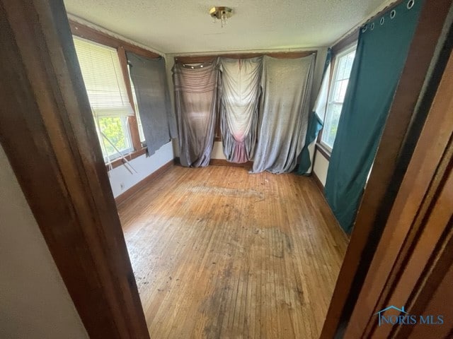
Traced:
<path fill-rule="evenodd" d="M 68 13 L 164 53 L 328 46 L 389 0 L 64 0 Z M 209 8 L 229 6 L 228 25 Z"/>

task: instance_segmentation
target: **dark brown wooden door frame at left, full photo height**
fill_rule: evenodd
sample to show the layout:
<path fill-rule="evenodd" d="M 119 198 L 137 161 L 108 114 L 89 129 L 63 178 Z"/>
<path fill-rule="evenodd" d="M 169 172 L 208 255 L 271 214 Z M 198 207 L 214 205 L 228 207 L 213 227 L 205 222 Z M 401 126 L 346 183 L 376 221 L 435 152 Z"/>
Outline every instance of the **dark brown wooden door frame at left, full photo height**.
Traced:
<path fill-rule="evenodd" d="M 0 142 L 90 338 L 149 338 L 62 1 L 0 1 Z"/>

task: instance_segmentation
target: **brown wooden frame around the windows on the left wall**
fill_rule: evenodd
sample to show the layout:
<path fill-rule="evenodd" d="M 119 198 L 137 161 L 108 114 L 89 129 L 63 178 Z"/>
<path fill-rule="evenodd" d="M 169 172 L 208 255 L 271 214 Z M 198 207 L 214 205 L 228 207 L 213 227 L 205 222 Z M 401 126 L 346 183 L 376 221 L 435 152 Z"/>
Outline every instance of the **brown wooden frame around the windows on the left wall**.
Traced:
<path fill-rule="evenodd" d="M 137 112 L 132 96 L 132 86 L 130 83 L 126 52 L 132 52 L 149 59 L 158 59 L 161 57 L 161 55 L 148 51 L 147 49 L 144 49 L 142 47 L 138 47 L 134 44 L 130 44 L 129 42 L 120 40 L 117 37 L 107 35 L 104 32 L 95 30 L 86 25 L 82 25 L 81 23 L 77 23 L 76 21 L 71 19 L 69 20 L 69 26 L 71 28 L 72 35 L 75 35 L 76 37 L 81 37 L 86 40 L 90 40 L 92 42 L 103 44 L 105 46 L 116 49 L 118 59 L 120 59 L 122 77 L 126 85 L 127 97 L 129 98 L 130 105 L 132 107 L 132 110 L 134 111 L 134 115 L 127 118 L 127 124 L 129 126 L 132 141 L 132 152 L 123 156 L 127 157 L 127 160 L 132 160 L 136 157 L 139 157 L 140 155 L 144 155 L 145 153 L 147 153 L 147 147 L 142 145 L 142 142 L 140 141 L 139 126 L 137 123 Z M 122 157 L 117 157 L 116 159 L 110 160 L 110 162 L 106 162 L 105 167 L 107 169 L 113 169 L 122 165 L 123 163 L 124 160 L 122 159 Z"/>

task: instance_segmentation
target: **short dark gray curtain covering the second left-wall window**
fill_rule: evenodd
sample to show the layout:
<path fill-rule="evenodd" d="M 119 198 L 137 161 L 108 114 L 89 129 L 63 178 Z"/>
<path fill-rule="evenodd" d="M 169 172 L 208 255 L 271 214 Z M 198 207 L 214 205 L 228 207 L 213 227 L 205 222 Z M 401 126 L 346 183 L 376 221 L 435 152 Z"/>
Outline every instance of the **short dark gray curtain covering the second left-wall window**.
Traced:
<path fill-rule="evenodd" d="M 171 110 L 165 59 L 148 59 L 127 52 L 148 155 L 178 136 Z"/>

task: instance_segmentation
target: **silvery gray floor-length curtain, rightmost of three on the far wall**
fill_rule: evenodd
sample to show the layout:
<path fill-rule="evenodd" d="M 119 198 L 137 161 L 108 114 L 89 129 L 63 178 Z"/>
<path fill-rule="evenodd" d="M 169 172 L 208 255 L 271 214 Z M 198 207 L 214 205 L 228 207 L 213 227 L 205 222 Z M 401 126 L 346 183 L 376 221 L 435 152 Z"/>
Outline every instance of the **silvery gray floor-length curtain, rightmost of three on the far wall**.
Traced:
<path fill-rule="evenodd" d="M 299 59 L 264 57 L 263 95 L 252 173 L 292 172 L 304 147 L 314 55 Z"/>

